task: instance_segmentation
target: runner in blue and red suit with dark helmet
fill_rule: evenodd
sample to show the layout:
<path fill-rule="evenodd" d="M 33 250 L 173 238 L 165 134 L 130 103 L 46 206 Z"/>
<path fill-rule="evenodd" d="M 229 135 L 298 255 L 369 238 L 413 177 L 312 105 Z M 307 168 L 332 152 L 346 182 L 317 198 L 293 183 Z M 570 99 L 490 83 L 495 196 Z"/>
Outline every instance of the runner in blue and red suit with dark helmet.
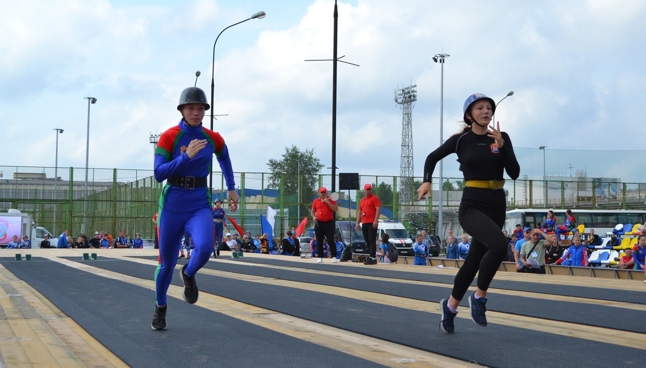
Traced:
<path fill-rule="evenodd" d="M 189 87 L 182 91 L 177 110 L 182 113 L 179 124 L 164 131 L 154 157 L 154 176 L 166 180 L 158 202 L 159 265 L 155 273 L 156 304 L 151 327 L 167 328 L 167 291 L 177 264 L 177 254 L 184 233 L 193 240 L 191 260 L 180 269 L 184 284 L 183 298 L 194 304 L 198 300 L 195 275 L 209 261 L 213 251 L 213 209 L 207 179 L 216 155 L 227 186 L 231 211 L 238 209 L 238 193 L 229 150 L 220 133 L 202 126 L 207 103 L 203 90 Z"/>

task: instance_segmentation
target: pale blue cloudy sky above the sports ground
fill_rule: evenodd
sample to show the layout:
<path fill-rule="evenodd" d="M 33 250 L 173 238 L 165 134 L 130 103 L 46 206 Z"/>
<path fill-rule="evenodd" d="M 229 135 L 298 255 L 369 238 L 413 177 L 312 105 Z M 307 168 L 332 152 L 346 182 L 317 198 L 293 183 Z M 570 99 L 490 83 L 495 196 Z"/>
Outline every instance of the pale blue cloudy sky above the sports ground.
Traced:
<path fill-rule="evenodd" d="M 646 2 L 339 1 L 337 173 L 399 175 L 402 111 L 417 85 L 414 175 L 461 128 L 475 92 L 499 104 L 521 177 L 644 182 Z M 620 5 L 618 5 L 620 4 Z M 331 167 L 333 0 L 0 0 L 1 166 L 152 169 L 151 133 L 176 125 L 196 82 L 236 172 L 285 148 Z M 227 26 L 259 11 L 264 19 Z M 444 70 L 432 58 L 446 53 Z M 443 86 L 442 86 L 443 75 Z M 441 95 L 443 92 L 443 108 Z M 443 117 L 443 137 L 440 120 Z M 205 117 L 205 126 L 209 118 Z M 634 139 L 632 137 L 635 137 Z M 547 146 L 545 152 L 538 149 Z M 545 159 L 543 154 L 545 153 Z M 444 177 L 461 177 L 456 157 Z M 437 170 L 436 170 L 437 171 Z M 437 176 L 436 172 L 433 176 Z"/>

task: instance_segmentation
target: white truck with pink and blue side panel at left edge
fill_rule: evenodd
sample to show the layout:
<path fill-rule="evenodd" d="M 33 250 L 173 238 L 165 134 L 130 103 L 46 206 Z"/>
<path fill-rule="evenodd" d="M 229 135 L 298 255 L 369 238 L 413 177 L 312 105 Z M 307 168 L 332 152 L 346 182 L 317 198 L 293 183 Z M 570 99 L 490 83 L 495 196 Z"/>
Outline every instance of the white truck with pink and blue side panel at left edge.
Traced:
<path fill-rule="evenodd" d="M 17 209 L 9 209 L 0 213 L 0 247 L 6 247 L 12 241 L 14 235 L 19 241 L 26 235 L 32 242 L 32 249 L 40 247 L 40 243 L 49 235 L 49 241 L 53 248 L 58 244 L 58 238 L 54 237 L 47 229 L 34 226 L 34 220 L 28 213 L 22 213 Z"/>

